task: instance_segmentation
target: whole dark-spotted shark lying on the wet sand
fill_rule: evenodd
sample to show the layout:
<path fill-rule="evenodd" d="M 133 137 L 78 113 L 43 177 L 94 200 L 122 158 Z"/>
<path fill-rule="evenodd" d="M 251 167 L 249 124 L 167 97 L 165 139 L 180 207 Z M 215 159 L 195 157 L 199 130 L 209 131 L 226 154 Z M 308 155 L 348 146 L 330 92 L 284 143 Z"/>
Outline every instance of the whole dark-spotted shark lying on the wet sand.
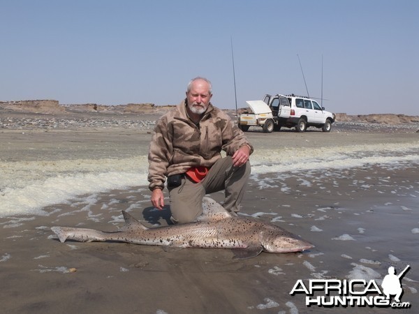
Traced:
<path fill-rule="evenodd" d="M 228 248 L 234 259 L 255 257 L 261 252 L 293 253 L 314 245 L 272 223 L 237 216 L 210 197 L 203 198 L 203 214 L 192 223 L 146 227 L 126 211 L 118 231 L 78 227 L 51 227 L 59 241 L 118 241 L 173 248 Z"/>

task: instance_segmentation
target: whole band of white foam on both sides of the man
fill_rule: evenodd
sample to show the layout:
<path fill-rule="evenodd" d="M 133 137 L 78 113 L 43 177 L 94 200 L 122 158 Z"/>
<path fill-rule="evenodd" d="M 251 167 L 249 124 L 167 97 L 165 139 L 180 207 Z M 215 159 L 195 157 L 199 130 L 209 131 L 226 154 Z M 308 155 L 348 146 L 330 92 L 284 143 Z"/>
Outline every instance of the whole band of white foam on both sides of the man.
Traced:
<path fill-rule="evenodd" d="M 290 156 L 293 158 L 289 158 Z M 319 149 L 279 147 L 256 150 L 251 155 L 251 175 L 263 188 L 277 183 L 258 178 L 260 174 L 270 172 L 285 174 L 304 170 L 348 169 L 374 164 L 402 167 L 403 163 L 419 163 L 419 143 Z M 47 215 L 43 208 L 66 203 L 78 195 L 148 185 L 147 156 L 121 159 L 94 159 L 92 156 L 90 159 L 77 160 L 1 161 L 0 170 L 0 217 L 20 214 Z M 302 184 L 311 183 L 302 181 Z"/>

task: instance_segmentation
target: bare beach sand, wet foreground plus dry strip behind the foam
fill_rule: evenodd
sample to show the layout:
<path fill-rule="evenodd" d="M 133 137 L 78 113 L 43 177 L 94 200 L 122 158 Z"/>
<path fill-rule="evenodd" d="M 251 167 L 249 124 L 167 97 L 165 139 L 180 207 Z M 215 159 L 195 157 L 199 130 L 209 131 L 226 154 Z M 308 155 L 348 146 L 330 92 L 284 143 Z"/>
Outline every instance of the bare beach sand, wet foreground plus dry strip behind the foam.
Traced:
<path fill-rule="evenodd" d="M 412 132 L 247 133 L 258 149 L 418 144 Z M 0 160 L 97 160 L 147 154 L 145 129 L 0 130 Z M 292 156 L 290 156 L 292 158 Z M 319 160 L 322 162 L 322 160 Z M 281 160 L 278 160 L 281 163 Z M 44 216 L 0 218 L 2 313 L 390 313 L 391 308 L 324 308 L 290 295 L 299 279 L 381 282 L 389 266 L 411 269 L 402 301 L 419 306 L 419 170 L 417 163 L 254 174 L 242 213 L 273 221 L 311 241 L 303 253 L 261 253 L 233 260 L 229 250 L 164 250 L 121 243 L 64 244 L 54 225 L 116 231 L 121 210 L 166 225 L 166 207 L 149 202 L 147 182 L 87 193 L 43 208 Z M 167 193 L 166 193 L 167 195 Z M 211 195 L 222 201 L 223 194 Z M 167 200 L 168 202 L 168 200 Z M 258 213 L 258 214 L 257 214 Z"/>

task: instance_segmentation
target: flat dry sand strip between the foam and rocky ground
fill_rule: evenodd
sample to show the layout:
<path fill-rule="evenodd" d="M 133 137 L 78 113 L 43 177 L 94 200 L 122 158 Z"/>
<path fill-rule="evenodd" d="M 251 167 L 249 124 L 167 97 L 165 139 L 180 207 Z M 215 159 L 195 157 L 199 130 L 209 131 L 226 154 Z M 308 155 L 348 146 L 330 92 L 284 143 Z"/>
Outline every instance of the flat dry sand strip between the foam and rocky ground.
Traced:
<path fill-rule="evenodd" d="M 255 129 L 247 133 L 256 149 L 269 147 L 336 147 L 353 144 L 417 142 L 413 130 L 364 130 L 347 124 L 332 133 L 309 129 L 306 133 L 283 130 L 271 134 Z M 76 128 L 74 130 L 0 130 L 0 160 L 54 160 L 66 158 L 120 158 L 146 155 L 152 130 L 126 128 Z M 272 145 L 272 146 L 271 146 Z M 59 157 L 59 156 L 58 156 Z"/>

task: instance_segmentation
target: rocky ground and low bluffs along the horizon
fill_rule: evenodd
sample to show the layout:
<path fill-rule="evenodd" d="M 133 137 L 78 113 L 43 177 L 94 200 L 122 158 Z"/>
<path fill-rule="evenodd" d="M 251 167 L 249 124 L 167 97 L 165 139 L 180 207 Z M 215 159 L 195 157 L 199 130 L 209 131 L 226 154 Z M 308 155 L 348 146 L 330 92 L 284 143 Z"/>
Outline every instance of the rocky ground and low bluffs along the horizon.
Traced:
<path fill-rule="evenodd" d="M 57 100 L 0 102 L 0 129 L 135 128 L 148 131 L 172 107 L 173 105 L 156 106 L 151 103 L 60 105 Z M 235 119 L 235 110 L 225 111 Z M 336 114 L 333 130 L 419 132 L 419 117 L 404 114 L 339 113 Z"/>

